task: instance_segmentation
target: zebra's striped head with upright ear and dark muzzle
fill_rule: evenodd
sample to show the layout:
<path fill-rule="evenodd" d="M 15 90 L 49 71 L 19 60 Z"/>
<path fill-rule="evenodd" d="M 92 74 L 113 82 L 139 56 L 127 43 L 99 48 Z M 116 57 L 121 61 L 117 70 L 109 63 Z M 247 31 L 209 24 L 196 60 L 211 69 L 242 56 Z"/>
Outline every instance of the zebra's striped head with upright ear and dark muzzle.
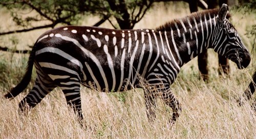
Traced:
<path fill-rule="evenodd" d="M 213 48 L 225 58 L 237 64 L 239 69 L 246 68 L 250 63 L 250 54 L 237 30 L 226 18 L 228 6 L 223 4 L 217 16 L 217 35 L 214 36 Z"/>

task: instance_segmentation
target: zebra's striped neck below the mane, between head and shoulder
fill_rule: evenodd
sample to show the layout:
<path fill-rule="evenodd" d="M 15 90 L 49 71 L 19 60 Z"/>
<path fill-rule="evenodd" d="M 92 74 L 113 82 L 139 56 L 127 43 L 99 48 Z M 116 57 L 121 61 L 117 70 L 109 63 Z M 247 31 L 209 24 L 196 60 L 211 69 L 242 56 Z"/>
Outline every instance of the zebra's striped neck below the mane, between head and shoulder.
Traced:
<path fill-rule="evenodd" d="M 168 36 L 166 47 L 172 51 L 179 67 L 194 59 L 199 53 L 211 48 L 214 40 L 216 16 L 204 14 L 200 19 L 174 22 L 175 27 L 164 33 Z M 180 26 L 178 24 L 181 24 Z M 185 25 L 186 24 L 186 25 Z"/>

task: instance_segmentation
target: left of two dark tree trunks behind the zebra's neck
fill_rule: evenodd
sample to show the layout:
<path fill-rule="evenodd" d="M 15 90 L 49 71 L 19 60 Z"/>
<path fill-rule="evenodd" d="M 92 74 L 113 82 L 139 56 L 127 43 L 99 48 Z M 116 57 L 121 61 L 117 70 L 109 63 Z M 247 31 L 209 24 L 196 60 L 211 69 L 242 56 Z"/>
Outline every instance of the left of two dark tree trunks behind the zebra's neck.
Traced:
<path fill-rule="evenodd" d="M 190 13 L 198 11 L 197 0 L 190 0 L 188 2 Z M 208 80 L 208 67 L 207 67 L 207 50 L 198 55 L 198 68 L 204 81 Z"/>

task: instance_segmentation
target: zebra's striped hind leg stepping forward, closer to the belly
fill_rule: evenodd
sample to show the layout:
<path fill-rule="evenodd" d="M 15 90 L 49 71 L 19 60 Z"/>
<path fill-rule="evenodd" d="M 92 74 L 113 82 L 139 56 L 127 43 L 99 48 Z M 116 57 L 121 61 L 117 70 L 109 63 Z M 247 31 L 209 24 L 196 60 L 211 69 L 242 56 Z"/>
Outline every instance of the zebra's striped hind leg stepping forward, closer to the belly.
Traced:
<path fill-rule="evenodd" d="M 70 81 L 61 82 L 60 84 L 60 88 L 66 97 L 67 104 L 73 108 L 79 121 L 83 120 L 81 108 L 80 82 Z"/>

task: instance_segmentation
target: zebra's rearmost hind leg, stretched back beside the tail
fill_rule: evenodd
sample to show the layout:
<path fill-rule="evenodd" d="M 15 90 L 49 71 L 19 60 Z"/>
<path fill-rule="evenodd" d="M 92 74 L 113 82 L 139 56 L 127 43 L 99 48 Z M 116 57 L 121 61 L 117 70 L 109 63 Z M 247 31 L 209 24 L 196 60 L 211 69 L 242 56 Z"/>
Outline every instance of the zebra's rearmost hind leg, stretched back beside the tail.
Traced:
<path fill-rule="evenodd" d="M 39 76 L 36 77 L 35 85 L 29 94 L 19 102 L 20 112 L 25 112 L 36 106 L 41 100 L 49 94 L 57 86 L 51 80 L 47 78 L 41 79 Z"/>

